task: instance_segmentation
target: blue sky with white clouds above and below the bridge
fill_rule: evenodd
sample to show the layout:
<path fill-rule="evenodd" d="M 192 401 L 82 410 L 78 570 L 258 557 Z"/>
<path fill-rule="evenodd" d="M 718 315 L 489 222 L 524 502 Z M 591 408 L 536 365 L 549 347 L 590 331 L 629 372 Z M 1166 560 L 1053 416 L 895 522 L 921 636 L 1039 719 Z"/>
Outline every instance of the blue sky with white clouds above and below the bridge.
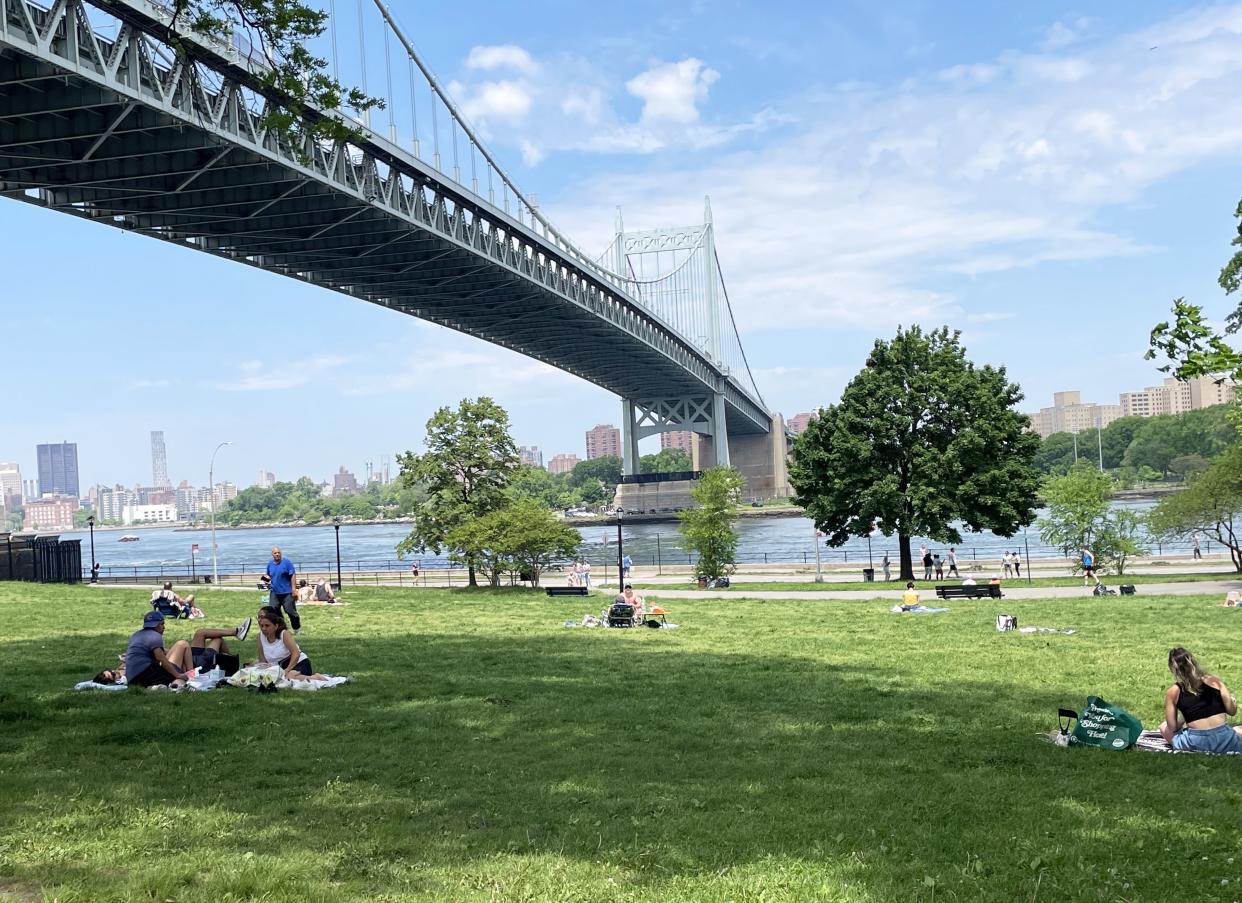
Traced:
<path fill-rule="evenodd" d="M 589 250 L 694 224 L 769 405 L 833 402 L 897 324 L 960 328 L 1026 407 L 1159 381 L 1146 334 L 1215 284 L 1242 195 L 1242 4 L 421 4 L 394 10 L 514 179 Z M 374 57 L 379 56 L 373 55 Z M 348 70 L 348 66 L 347 66 Z M 379 83 L 371 73 L 371 86 Z M 607 393 L 298 282 L 0 202 L 0 461 L 84 483 L 361 472 L 463 395 L 584 453 Z M 35 389 L 37 386 L 37 389 Z M 652 440 L 652 442 L 655 442 Z"/>

